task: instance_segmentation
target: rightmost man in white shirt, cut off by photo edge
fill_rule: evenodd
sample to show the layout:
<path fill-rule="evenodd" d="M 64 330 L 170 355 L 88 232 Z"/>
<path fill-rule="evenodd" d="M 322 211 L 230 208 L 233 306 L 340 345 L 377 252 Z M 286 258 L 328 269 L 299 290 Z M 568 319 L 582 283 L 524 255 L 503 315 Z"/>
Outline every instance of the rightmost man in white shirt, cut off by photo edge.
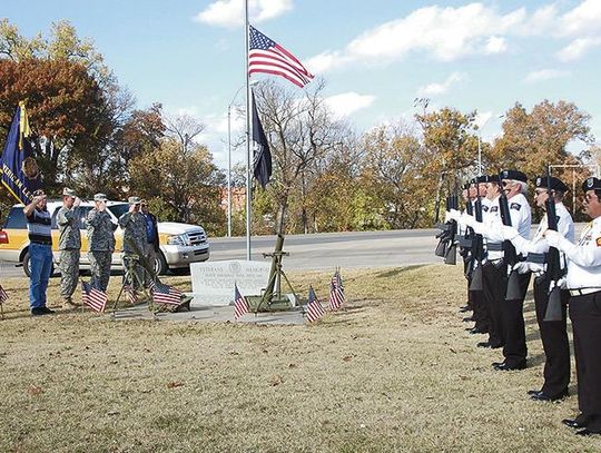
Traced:
<path fill-rule="evenodd" d="M 584 210 L 592 218 L 578 244 L 548 229 L 544 236 L 568 258 L 565 287 L 570 290 L 570 319 L 574 331 L 574 355 L 580 414 L 564 420 L 579 435 L 601 433 L 601 180 L 582 185 Z"/>

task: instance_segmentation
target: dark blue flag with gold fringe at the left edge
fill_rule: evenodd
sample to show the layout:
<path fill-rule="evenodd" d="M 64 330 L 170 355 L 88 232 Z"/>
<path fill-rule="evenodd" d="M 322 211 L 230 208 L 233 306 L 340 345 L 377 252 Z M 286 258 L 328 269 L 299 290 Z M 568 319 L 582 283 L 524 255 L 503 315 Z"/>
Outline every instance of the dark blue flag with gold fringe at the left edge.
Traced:
<path fill-rule="evenodd" d="M 31 156 L 29 120 L 24 102 L 19 102 L 0 158 L 2 185 L 14 198 L 28 205 L 40 188 L 40 171 Z"/>

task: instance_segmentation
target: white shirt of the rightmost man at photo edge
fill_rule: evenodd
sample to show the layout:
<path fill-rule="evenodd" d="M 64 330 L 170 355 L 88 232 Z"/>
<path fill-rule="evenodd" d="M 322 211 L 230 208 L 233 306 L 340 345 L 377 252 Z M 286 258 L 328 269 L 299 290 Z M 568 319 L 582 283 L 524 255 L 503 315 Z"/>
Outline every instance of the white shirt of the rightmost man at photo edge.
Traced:
<path fill-rule="evenodd" d="M 601 217 L 584 228 L 578 244 L 560 240 L 559 248 L 568 257 L 568 289 L 601 290 Z"/>

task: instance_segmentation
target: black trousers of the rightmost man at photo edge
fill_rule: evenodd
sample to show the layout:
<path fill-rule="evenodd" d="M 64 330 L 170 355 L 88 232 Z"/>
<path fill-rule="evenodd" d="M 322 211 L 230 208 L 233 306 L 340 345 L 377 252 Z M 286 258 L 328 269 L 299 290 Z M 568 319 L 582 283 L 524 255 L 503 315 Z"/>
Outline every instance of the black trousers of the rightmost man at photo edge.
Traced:
<path fill-rule="evenodd" d="M 570 297 L 578 377 L 577 418 L 601 433 L 601 292 Z"/>

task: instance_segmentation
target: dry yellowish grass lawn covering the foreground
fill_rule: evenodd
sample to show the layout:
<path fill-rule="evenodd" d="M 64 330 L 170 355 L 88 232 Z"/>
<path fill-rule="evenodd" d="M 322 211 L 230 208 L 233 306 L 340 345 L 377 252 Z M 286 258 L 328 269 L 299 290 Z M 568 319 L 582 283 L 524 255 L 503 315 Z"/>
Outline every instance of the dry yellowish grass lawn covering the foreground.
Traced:
<path fill-rule="evenodd" d="M 289 276 L 327 298 L 331 273 Z M 3 282 L 0 451 L 599 451 L 560 425 L 575 396 L 525 397 L 541 384 L 531 303 L 533 365 L 499 373 L 456 312 L 460 266 L 343 276 L 347 309 L 312 326 L 30 318 L 28 282 Z"/>

